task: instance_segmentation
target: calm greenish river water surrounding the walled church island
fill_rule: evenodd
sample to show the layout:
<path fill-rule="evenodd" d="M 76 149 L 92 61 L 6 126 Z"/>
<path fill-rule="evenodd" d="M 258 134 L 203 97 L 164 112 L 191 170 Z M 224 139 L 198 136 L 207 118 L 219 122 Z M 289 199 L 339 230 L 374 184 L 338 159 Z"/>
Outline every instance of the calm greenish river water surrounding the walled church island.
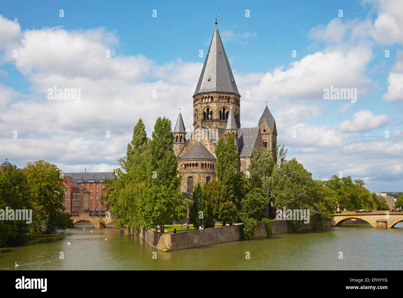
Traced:
<path fill-rule="evenodd" d="M 128 229 L 95 229 L 86 222 L 77 226 L 0 249 L 0 270 L 403 269 L 403 222 L 392 229 L 355 223 L 165 253 Z"/>

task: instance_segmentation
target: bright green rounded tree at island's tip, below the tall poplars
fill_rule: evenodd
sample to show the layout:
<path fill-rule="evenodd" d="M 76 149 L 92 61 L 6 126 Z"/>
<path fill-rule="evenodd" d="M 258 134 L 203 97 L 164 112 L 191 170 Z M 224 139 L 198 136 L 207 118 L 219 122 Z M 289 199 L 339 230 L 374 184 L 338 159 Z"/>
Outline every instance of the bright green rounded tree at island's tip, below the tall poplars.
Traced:
<path fill-rule="evenodd" d="M 179 220 L 187 215 L 187 205 L 191 206 L 191 200 L 185 198 L 173 184 L 169 188 L 165 185 L 145 188 L 138 202 L 140 225 L 145 229 L 160 226 L 160 232 L 164 233 L 168 221 Z"/>

